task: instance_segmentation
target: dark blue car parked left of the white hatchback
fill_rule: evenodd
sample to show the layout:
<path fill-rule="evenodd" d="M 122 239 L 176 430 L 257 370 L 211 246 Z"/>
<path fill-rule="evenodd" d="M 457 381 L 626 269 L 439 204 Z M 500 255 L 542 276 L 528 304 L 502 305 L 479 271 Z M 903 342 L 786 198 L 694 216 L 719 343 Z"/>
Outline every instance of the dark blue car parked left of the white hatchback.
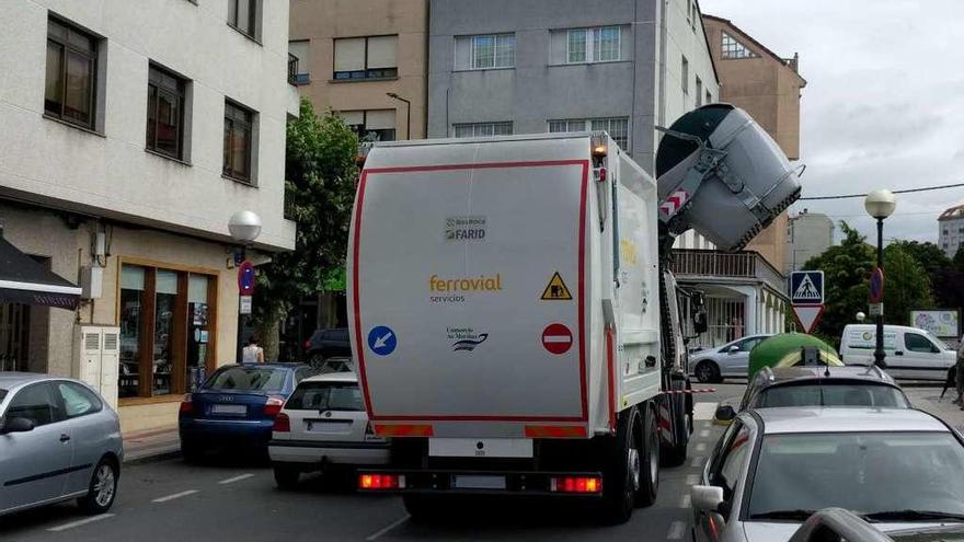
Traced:
<path fill-rule="evenodd" d="M 219 368 L 181 403 L 181 452 L 197 461 L 209 450 L 267 454 L 275 417 L 314 370 L 307 365 L 257 364 Z"/>

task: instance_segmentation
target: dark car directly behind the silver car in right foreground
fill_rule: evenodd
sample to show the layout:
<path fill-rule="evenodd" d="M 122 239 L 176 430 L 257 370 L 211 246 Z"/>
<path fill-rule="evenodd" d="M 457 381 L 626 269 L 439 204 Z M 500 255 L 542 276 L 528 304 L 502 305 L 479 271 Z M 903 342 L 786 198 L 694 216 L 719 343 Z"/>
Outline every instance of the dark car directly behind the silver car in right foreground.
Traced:
<path fill-rule="evenodd" d="M 879 367 L 764 367 L 746 387 L 739 410 L 781 406 L 909 408 L 910 401 Z M 714 416 L 719 422 L 734 417 L 730 404 L 721 404 Z"/>

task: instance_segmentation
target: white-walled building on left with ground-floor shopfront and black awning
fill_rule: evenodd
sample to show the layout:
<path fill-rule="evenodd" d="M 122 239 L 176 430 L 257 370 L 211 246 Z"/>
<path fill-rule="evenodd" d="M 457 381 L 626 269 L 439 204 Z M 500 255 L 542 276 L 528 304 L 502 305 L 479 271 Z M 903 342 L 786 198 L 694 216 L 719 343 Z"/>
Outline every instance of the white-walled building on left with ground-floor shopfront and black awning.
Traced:
<path fill-rule="evenodd" d="M 288 3 L 11 0 L 0 49 L 3 246 L 65 298 L 0 284 L 3 369 L 103 361 L 87 376 L 125 431 L 170 426 L 183 394 L 236 359 L 230 217 L 260 217 L 256 262 L 295 245 Z"/>

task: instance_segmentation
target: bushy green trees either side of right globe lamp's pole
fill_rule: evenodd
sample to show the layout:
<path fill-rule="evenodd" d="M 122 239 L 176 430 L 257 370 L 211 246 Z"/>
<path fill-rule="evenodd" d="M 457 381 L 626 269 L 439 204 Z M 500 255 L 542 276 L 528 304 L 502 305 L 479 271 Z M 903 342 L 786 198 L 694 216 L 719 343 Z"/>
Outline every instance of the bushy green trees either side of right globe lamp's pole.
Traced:
<path fill-rule="evenodd" d="M 844 241 L 805 265 L 806 269 L 824 272 L 826 307 L 817 334 L 833 343 L 839 343 L 844 326 L 853 323 L 858 312 L 867 312 L 870 274 L 876 264 L 876 250 L 867 243 L 867 238 L 847 222 L 840 222 L 840 230 Z M 923 243 L 927 244 L 931 243 Z M 923 245 L 895 242 L 884 249 L 884 320 L 887 323 L 906 325 L 911 309 L 933 305 L 930 280 L 917 260 L 932 252 Z"/>

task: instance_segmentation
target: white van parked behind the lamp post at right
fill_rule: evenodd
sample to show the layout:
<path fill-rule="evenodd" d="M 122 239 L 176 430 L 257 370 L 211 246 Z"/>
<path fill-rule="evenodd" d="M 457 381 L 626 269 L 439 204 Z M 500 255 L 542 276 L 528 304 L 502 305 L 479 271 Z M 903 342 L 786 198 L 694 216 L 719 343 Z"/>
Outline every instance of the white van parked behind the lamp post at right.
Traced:
<path fill-rule="evenodd" d="M 840 358 L 845 365 L 872 365 L 876 347 L 876 326 L 850 324 L 840 337 Z M 957 359 L 956 350 L 925 330 L 905 325 L 884 326 L 886 371 L 894 378 L 940 380 Z"/>

